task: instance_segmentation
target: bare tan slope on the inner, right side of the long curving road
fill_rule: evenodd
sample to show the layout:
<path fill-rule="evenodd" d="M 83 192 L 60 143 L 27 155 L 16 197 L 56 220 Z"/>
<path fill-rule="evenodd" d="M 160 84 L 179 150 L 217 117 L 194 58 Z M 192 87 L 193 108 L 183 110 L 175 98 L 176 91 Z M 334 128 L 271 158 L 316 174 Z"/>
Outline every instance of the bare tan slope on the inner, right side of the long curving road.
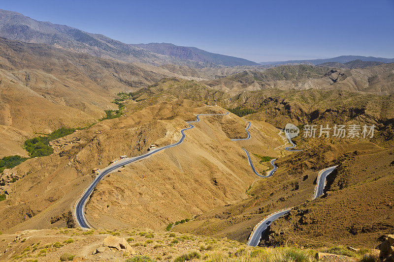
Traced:
<path fill-rule="evenodd" d="M 245 191 L 257 176 L 240 144 L 230 138 L 246 137 L 247 123 L 232 114 L 200 119 L 186 131 L 183 144 L 106 177 L 87 204 L 88 221 L 95 227 L 139 225 L 160 230 L 171 222 L 246 199 Z M 256 123 L 251 130 L 253 139 L 243 146 L 262 155 L 278 155 L 273 148 L 282 140 L 274 127 Z"/>

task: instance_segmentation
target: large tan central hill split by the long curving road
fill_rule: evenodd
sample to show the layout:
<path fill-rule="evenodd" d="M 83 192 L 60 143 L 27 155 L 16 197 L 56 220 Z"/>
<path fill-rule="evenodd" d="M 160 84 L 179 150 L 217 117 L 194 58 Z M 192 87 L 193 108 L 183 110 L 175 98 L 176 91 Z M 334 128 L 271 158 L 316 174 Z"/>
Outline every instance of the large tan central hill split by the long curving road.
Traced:
<path fill-rule="evenodd" d="M 0 230 L 66 225 L 69 217 L 63 214 L 92 181 L 93 168 L 105 167 L 120 155 L 140 155 L 150 144 L 164 146 L 178 141 L 185 120 L 195 119 L 193 113 L 223 112 L 201 106 L 175 100 L 105 120 L 61 139 L 78 143 L 68 143 L 50 156 L 15 167 L 13 172 L 25 176 L 10 186 L 10 198 L 0 202 L 5 215 Z M 185 216 L 246 198 L 244 192 L 256 175 L 244 151 L 226 135 L 246 136 L 246 122 L 234 115 L 201 120 L 180 146 L 105 178 L 86 207 L 88 220 L 98 227 L 139 224 L 160 229 Z M 272 154 L 272 148 L 281 145 L 276 129 L 266 123 L 256 124 L 252 132 L 255 140 L 251 146 L 257 151 Z"/>

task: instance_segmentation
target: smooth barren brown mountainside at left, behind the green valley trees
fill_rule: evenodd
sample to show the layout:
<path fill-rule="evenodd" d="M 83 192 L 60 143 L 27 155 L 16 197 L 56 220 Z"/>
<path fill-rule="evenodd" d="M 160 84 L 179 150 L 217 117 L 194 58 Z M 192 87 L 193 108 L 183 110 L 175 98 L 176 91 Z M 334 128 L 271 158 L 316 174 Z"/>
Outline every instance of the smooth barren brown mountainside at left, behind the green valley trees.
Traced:
<path fill-rule="evenodd" d="M 0 38 L 0 156 L 22 154 L 34 133 L 85 127 L 115 109 L 120 91 L 134 91 L 163 77 L 155 66 L 68 52 L 48 45 Z M 11 128 L 11 129 L 10 129 Z M 22 142 L 22 143 L 21 143 Z"/>

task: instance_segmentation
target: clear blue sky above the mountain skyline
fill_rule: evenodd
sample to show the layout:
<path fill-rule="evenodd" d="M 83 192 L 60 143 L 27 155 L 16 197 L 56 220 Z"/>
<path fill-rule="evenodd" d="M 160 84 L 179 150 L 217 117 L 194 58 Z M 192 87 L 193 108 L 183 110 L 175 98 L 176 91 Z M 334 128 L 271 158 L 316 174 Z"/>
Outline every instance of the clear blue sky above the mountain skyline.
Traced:
<path fill-rule="evenodd" d="M 394 0 L 0 0 L 0 8 L 125 43 L 195 46 L 257 62 L 394 57 Z"/>

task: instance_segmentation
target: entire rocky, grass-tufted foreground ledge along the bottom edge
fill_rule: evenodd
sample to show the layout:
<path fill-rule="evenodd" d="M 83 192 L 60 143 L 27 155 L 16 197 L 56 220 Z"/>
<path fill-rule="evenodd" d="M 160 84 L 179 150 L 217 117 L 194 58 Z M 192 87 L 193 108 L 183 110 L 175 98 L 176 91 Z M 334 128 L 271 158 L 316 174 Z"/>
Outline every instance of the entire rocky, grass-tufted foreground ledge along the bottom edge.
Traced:
<path fill-rule="evenodd" d="M 354 257 L 296 247 L 250 247 L 227 238 L 175 232 L 138 230 L 82 230 L 53 228 L 0 235 L 0 261 L 365 261 L 360 250 L 344 250 Z M 338 250 L 338 248 L 325 249 Z M 321 250 L 322 251 L 322 250 Z M 377 258 L 376 251 L 372 254 Z M 364 253 L 370 254 L 370 250 Z M 377 251 L 379 252 L 379 251 Z"/>

